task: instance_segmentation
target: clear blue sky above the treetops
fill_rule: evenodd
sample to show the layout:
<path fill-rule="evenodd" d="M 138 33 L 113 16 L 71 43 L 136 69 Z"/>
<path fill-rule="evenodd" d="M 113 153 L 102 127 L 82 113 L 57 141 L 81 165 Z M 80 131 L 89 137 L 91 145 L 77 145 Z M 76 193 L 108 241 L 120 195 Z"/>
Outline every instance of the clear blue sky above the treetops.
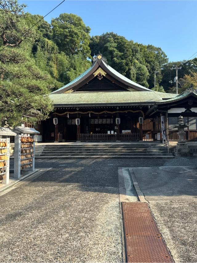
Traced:
<path fill-rule="evenodd" d="M 61 1 L 19 1 L 31 14 L 45 15 Z M 61 13 L 80 16 L 91 35 L 115 32 L 128 40 L 161 47 L 169 61 L 197 51 L 197 1 L 65 1 L 45 20 Z M 196 54 L 197 55 L 197 54 Z"/>

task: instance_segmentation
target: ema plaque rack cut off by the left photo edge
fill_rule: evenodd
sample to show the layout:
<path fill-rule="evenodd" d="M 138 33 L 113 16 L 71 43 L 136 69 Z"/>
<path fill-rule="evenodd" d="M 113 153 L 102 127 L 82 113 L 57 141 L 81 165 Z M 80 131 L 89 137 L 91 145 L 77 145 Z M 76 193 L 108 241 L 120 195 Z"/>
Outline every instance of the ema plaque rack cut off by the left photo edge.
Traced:
<path fill-rule="evenodd" d="M 8 128 L 0 127 L 0 183 L 9 184 L 10 179 L 10 136 L 16 133 Z"/>

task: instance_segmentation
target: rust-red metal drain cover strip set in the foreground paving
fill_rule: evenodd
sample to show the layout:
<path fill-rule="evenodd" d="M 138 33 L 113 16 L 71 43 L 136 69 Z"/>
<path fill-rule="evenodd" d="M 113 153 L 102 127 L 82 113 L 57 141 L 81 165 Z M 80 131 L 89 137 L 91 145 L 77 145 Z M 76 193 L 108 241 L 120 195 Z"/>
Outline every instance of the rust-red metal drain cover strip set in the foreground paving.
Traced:
<path fill-rule="evenodd" d="M 127 262 L 174 262 L 147 203 L 122 203 Z"/>

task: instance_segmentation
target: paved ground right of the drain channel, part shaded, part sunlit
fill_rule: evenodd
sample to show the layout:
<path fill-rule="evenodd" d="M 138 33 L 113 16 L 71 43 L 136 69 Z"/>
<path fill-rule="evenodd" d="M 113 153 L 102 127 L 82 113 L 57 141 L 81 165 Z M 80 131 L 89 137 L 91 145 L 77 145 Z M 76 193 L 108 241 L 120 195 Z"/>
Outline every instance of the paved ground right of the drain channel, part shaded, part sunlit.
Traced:
<path fill-rule="evenodd" d="M 175 262 L 197 262 L 196 166 L 133 171 Z"/>

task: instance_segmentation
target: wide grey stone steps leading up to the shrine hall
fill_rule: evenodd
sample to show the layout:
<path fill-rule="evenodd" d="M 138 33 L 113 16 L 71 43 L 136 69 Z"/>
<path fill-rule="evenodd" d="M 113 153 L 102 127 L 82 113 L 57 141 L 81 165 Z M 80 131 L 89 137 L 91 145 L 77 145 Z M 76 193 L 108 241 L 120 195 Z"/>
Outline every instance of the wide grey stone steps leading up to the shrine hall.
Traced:
<path fill-rule="evenodd" d="M 37 159 L 80 158 L 174 158 L 163 144 L 155 143 L 80 143 L 37 144 Z"/>

